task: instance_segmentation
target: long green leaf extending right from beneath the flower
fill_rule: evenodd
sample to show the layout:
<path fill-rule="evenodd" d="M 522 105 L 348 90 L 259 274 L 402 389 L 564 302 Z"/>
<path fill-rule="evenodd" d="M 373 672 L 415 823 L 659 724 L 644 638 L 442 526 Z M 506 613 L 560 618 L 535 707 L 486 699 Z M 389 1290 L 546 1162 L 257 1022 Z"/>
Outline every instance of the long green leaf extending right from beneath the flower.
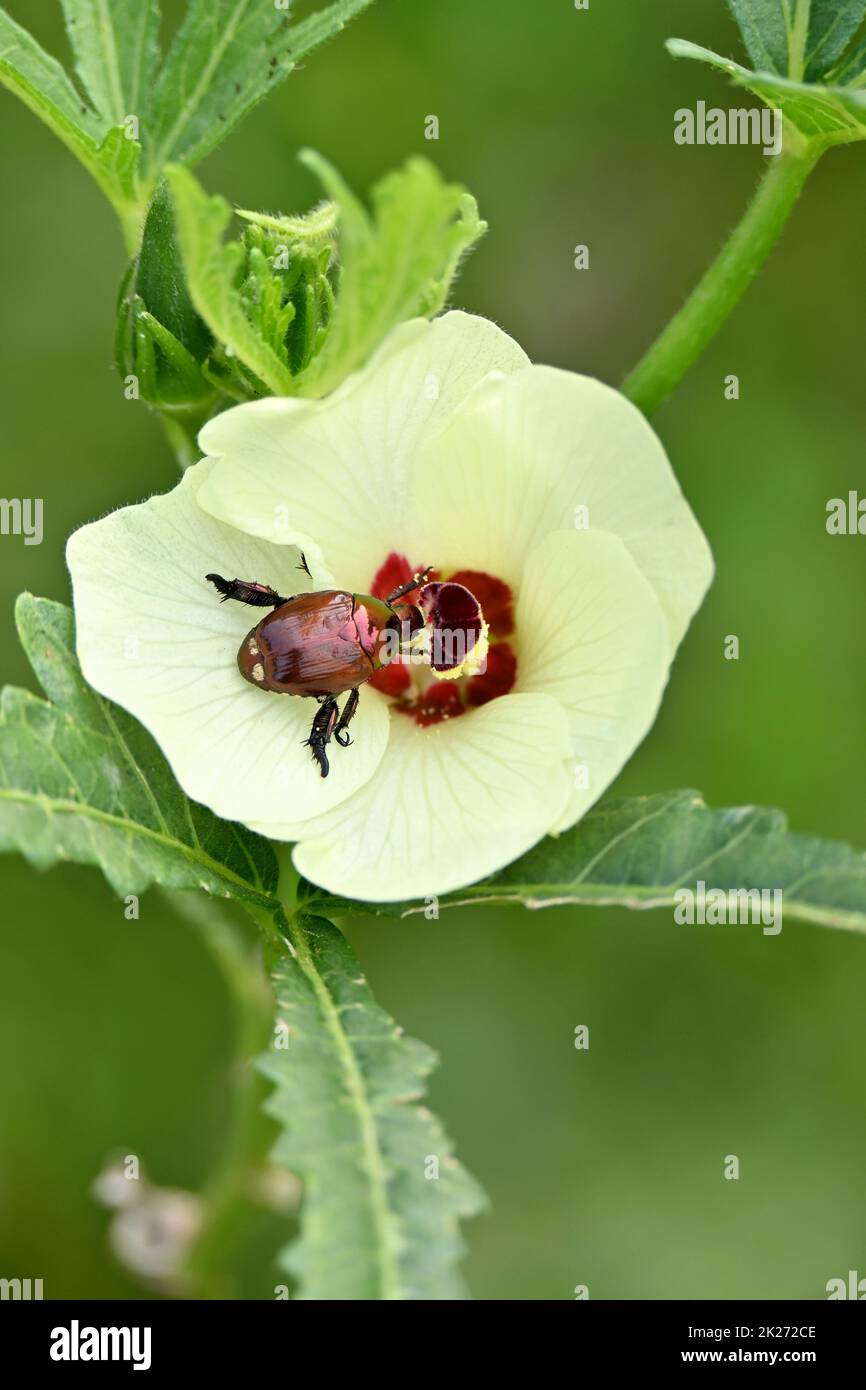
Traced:
<path fill-rule="evenodd" d="M 780 810 L 712 809 L 698 792 L 602 802 L 573 830 L 544 840 L 502 873 L 439 902 L 673 906 L 678 888 L 780 888 L 784 917 L 866 931 L 866 853 L 788 830 Z M 304 885 L 309 910 L 424 912 L 424 902 L 349 903 Z"/>

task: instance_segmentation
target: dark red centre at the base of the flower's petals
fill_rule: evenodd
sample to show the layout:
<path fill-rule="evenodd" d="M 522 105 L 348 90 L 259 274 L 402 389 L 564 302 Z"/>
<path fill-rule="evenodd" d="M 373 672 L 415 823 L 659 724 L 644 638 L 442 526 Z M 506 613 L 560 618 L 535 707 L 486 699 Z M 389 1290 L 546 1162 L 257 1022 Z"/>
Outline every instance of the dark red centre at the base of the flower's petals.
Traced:
<path fill-rule="evenodd" d="M 377 570 L 370 592 L 377 599 L 385 599 L 418 573 L 420 566 L 413 567 L 405 555 L 392 550 Z M 436 582 L 431 584 L 431 578 Z M 464 596 L 450 585 L 468 589 L 468 595 Z M 473 598 L 488 624 L 491 645 L 487 669 L 478 676 L 431 681 L 432 673 L 428 667 L 410 666 L 399 657 L 375 673 L 370 685 L 382 695 L 389 695 L 395 701 L 393 708 L 402 714 L 410 714 L 423 728 L 456 719 L 467 709 L 487 705 L 499 695 L 507 695 L 517 678 L 517 657 L 510 644 L 503 641 L 514 631 L 514 600 L 509 585 L 484 570 L 457 570 L 448 575 L 432 571 L 425 587 L 430 591 L 430 603 L 441 598 L 448 610 L 443 620 L 453 626 L 460 624 L 463 607 L 471 614 L 467 600 Z M 417 600 L 418 588 L 400 599 L 402 603 L 417 603 Z"/>

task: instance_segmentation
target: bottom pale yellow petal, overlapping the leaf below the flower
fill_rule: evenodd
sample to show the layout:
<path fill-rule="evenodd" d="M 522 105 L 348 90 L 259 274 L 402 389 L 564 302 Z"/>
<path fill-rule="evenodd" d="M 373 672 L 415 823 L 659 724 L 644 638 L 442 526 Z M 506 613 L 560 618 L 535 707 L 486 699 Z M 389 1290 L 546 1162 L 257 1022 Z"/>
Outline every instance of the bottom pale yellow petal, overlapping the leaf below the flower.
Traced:
<path fill-rule="evenodd" d="M 537 844 L 570 790 L 567 721 L 548 695 L 506 695 L 430 728 L 393 714 L 375 776 L 297 827 L 295 865 L 366 901 L 449 892 Z"/>

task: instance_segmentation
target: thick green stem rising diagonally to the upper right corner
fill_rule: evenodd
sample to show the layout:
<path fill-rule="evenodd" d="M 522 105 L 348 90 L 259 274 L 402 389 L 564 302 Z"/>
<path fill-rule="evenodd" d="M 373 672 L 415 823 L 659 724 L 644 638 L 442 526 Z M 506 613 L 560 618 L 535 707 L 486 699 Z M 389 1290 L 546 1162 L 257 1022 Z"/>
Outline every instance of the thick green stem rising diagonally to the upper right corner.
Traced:
<path fill-rule="evenodd" d="M 778 240 L 824 147 L 785 125 L 785 153 L 771 160 L 721 254 L 623 382 L 624 395 L 644 414 L 657 410 L 737 307 Z"/>

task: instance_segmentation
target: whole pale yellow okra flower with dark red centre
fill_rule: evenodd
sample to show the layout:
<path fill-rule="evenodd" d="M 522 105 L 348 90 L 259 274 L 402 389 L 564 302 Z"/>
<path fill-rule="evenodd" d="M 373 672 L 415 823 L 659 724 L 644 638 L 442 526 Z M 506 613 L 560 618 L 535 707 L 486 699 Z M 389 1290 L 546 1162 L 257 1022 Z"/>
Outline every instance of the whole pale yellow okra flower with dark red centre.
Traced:
<path fill-rule="evenodd" d="M 449 313 L 403 324 L 324 400 L 217 416 L 200 446 L 172 492 L 68 548 L 83 673 L 189 796 L 367 901 L 461 888 L 580 820 L 649 730 L 712 578 L 623 396 Z M 324 778 L 302 746 L 314 701 L 242 678 L 261 614 L 206 575 L 385 598 L 425 566 L 474 596 L 487 660 L 371 667 Z"/>

